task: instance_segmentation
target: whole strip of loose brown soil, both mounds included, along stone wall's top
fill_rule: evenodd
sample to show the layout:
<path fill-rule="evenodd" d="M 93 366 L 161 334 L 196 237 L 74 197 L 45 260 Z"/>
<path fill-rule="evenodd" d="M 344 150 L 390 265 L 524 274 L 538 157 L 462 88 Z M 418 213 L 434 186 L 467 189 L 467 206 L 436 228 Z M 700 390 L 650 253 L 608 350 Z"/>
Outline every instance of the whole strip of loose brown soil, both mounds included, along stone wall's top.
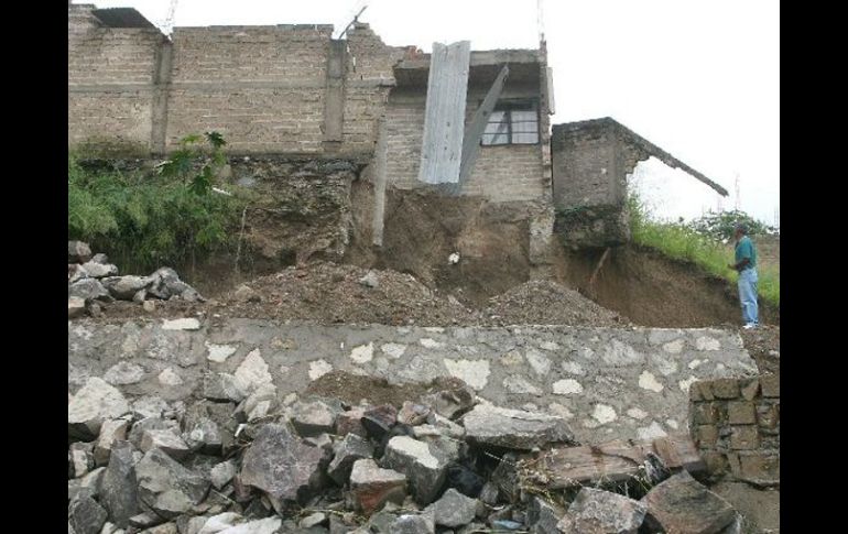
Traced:
<path fill-rule="evenodd" d="M 260 302 L 243 302 L 235 291 L 206 303 L 154 301 L 155 309 L 131 302 L 104 305 L 108 318 L 244 317 L 272 320 L 303 320 L 318 324 L 359 323 L 384 325 L 481 325 L 514 324 L 621 326 L 613 312 L 598 306 L 579 293 L 554 282 L 528 282 L 493 297 L 482 309 L 465 306 L 453 295 L 430 290 L 410 274 L 373 271 L 378 285 L 360 283 L 368 270 L 354 265 L 317 263 L 304 269 L 289 268 L 260 276 L 248 286 Z"/>

